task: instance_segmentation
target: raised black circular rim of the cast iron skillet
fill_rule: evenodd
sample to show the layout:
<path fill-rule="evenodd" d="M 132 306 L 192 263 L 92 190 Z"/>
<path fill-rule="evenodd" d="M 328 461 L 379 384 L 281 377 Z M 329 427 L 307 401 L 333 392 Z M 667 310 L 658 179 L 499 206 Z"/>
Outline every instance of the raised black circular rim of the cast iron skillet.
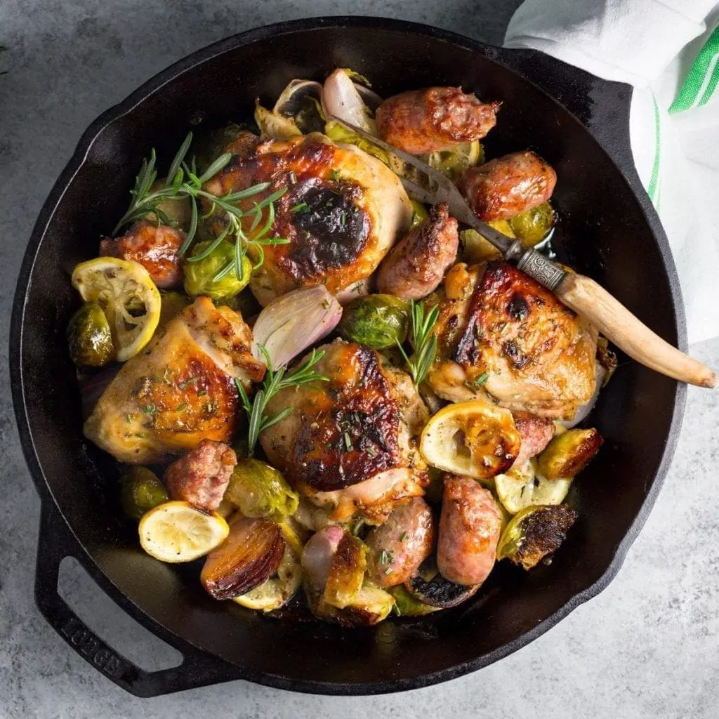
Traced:
<path fill-rule="evenodd" d="M 471 661 L 464 662 L 463 664 L 457 664 L 453 667 L 447 667 L 441 669 L 439 672 L 431 674 L 425 674 L 420 677 L 413 677 L 411 679 L 396 679 L 389 682 L 323 682 L 308 681 L 308 680 L 294 680 L 286 679 L 285 677 L 279 677 L 275 674 L 267 674 L 265 672 L 253 672 L 251 669 L 242 669 L 236 667 L 234 664 L 228 664 L 224 660 L 216 657 L 208 652 L 199 649 L 198 647 L 188 642 L 186 639 L 175 635 L 170 632 L 167 628 L 157 623 L 156 620 L 147 615 L 142 608 L 134 604 L 129 597 L 124 595 L 122 592 L 115 587 L 110 580 L 105 576 L 103 572 L 94 562 L 94 559 L 88 554 L 85 547 L 75 537 L 74 532 L 70 526 L 65 522 L 62 510 L 58 505 L 55 504 L 55 500 L 52 498 L 50 488 L 45 482 L 45 477 L 42 472 L 40 461 L 35 452 L 35 446 L 32 441 L 32 435 L 29 431 L 29 423 L 27 421 L 27 406 L 24 401 L 24 388 L 23 388 L 23 372 L 22 372 L 22 332 L 24 326 L 24 308 L 27 293 L 29 291 L 29 279 L 32 274 L 32 269 L 35 265 L 37 253 L 39 252 L 42 239 L 45 236 L 47 226 L 52 221 L 52 217 L 55 214 L 55 210 L 58 204 L 63 198 L 65 190 L 73 179 L 76 173 L 81 169 L 84 160 L 86 159 L 88 150 L 90 149 L 96 136 L 106 127 L 107 124 L 113 122 L 119 117 L 127 114 L 131 111 L 134 106 L 139 104 L 140 101 L 145 99 L 150 93 L 157 91 L 160 87 L 166 83 L 173 81 L 179 75 L 191 70 L 196 65 L 203 63 L 211 57 L 220 55 L 223 52 L 232 50 L 234 47 L 241 45 L 247 45 L 250 42 L 262 40 L 265 37 L 271 35 L 287 34 L 289 32 L 304 31 L 311 29 L 321 29 L 323 27 L 353 27 L 353 28 L 364 28 L 364 29 L 390 29 L 396 32 L 411 33 L 414 35 L 424 35 L 426 37 L 432 37 L 436 40 L 443 40 L 444 42 L 451 43 L 453 45 L 459 45 L 472 52 L 478 52 L 480 55 L 487 57 L 490 55 L 493 61 L 500 65 L 505 65 L 501 58 L 503 52 L 524 52 L 526 55 L 541 55 L 541 53 L 533 50 L 503 50 L 493 45 L 487 45 L 486 43 L 472 40 L 469 37 L 458 35 L 448 30 L 432 27 L 426 24 L 420 24 L 415 22 L 407 22 L 403 20 L 387 19 L 382 17 L 362 17 L 362 16 L 329 16 L 329 17 L 315 17 L 310 19 L 290 20 L 287 22 L 278 22 L 275 24 L 265 25 L 263 27 L 247 30 L 237 35 L 232 35 L 224 40 L 219 40 L 211 45 L 203 47 L 201 50 L 191 53 L 191 55 L 178 60 L 173 63 L 170 67 L 157 73 L 146 83 L 143 83 L 137 90 L 127 96 L 126 99 L 121 101 L 119 104 L 112 106 L 101 114 L 89 127 L 83 132 L 81 138 L 78 140 L 78 145 L 73 152 L 72 157 L 65 166 L 65 169 L 60 174 L 60 177 L 52 187 L 47 200 L 42 206 L 40 214 L 37 218 L 35 226 L 32 230 L 31 237 L 27 244 L 22 266 L 20 268 L 19 277 L 17 281 L 17 289 L 14 296 L 13 307 L 12 307 L 12 321 L 10 327 L 10 347 L 9 347 L 9 365 L 12 385 L 12 397 L 14 403 L 14 411 L 17 420 L 17 426 L 22 445 L 23 454 L 25 461 L 29 468 L 30 474 L 32 475 L 33 482 L 37 487 L 38 493 L 42 499 L 43 504 L 52 503 L 53 507 L 60 516 L 63 517 L 63 524 L 67 529 L 70 536 L 73 537 L 78 548 L 81 549 L 78 554 L 81 554 L 80 559 L 83 567 L 90 572 L 94 580 L 96 580 L 101 589 L 104 590 L 123 610 L 127 611 L 132 618 L 137 620 L 142 626 L 145 626 L 149 631 L 152 631 L 156 636 L 159 636 L 168 644 L 175 646 L 180 652 L 184 654 L 197 654 L 198 651 L 201 654 L 206 655 L 208 659 L 214 659 L 219 664 L 218 674 L 224 674 L 219 681 L 227 681 L 231 679 L 246 679 L 248 681 L 256 682 L 258 684 L 264 684 L 269 687 L 276 687 L 278 689 L 293 690 L 297 692 L 307 692 L 313 694 L 324 694 L 324 695 L 374 695 L 383 694 L 388 692 L 401 692 L 405 690 L 418 689 L 420 687 L 426 687 L 431 684 L 439 684 L 441 682 L 455 679 L 464 674 L 475 672 L 477 669 L 482 669 L 489 664 L 493 664 L 499 659 L 512 654 L 514 651 L 521 649 L 526 644 L 529 644 L 534 639 L 544 634 L 547 630 L 557 624 L 560 620 L 566 617 L 572 610 L 577 608 L 582 603 L 595 597 L 599 592 L 605 589 L 610 582 L 614 579 L 621 565 L 626 558 L 626 554 L 633 544 L 633 541 L 638 536 L 639 531 L 644 526 L 646 518 L 649 516 L 649 512 L 659 495 L 661 485 L 664 483 L 664 479 L 669 470 L 669 465 L 674 455 L 674 450 L 677 446 L 677 440 L 679 437 L 679 430 L 682 426 L 682 418 L 684 416 L 684 406 L 686 403 L 687 388 L 686 385 L 677 384 L 677 392 L 674 396 L 674 408 L 672 412 L 672 423 L 669 427 L 669 434 L 667 436 L 667 442 L 664 445 L 664 452 L 661 457 L 659 469 L 656 471 L 654 481 L 651 484 L 651 489 L 646 495 L 644 503 L 641 505 L 641 509 L 634 518 L 631 526 L 627 533 L 623 537 L 622 541 L 615 547 L 615 554 L 610 562 L 609 566 L 602 574 L 602 576 L 594 582 L 592 585 L 586 587 L 584 590 L 577 592 L 571 600 L 565 603 L 556 612 L 549 615 L 546 619 L 541 621 L 531 631 L 524 633 L 523 635 L 516 638 L 516 640 L 505 644 L 495 651 L 477 657 Z M 559 63 L 558 60 L 554 61 Z M 512 72 L 518 73 L 517 70 L 511 66 L 505 65 Z M 577 70 L 577 72 L 582 72 Z M 526 78 L 522 73 L 518 73 L 522 76 L 523 80 L 534 84 L 530 79 Z M 586 73 L 585 73 L 586 74 Z M 544 88 L 540 88 L 543 92 L 547 93 Z M 551 95 L 551 93 L 548 93 Z M 556 100 L 556 98 L 555 98 Z M 556 100 L 559 102 L 559 100 Z M 560 104 L 562 104 L 560 102 Z M 564 106 L 564 105 L 563 105 Z M 565 107 L 565 109 L 567 109 Z M 567 111 L 572 114 L 569 109 Z M 575 116 L 576 119 L 576 116 Z M 580 122 L 577 120 L 577 122 Z M 581 123 L 584 127 L 586 125 Z M 592 130 L 587 128 L 587 132 L 595 136 Z M 599 142 L 597 140 L 597 142 Z M 600 147 L 607 152 L 607 149 L 600 142 Z M 608 153 L 609 154 L 609 153 Z M 629 186 L 631 187 L 635 196 L 637 196 L 641 208 L 644 211 L 646 221 L 649 224 L 654 239 L 656 240 L 657 247 L 661 254 L 661 260 L 664 264 L 664 269 L 667 273 L 667 279 L 669 280 L 670 290 L 672 293 L 672 305 L 674 308 L 674 319 L 677 325 L 677 339 L 678 346 L 680 349 L 686 349 L 687 347 L 687 329 L 686 321 L 684 318 L 684 306 L 682 296 L 679 290 L 679 280 L 677 277 L 677 270 L 674 266 L 674 260 L 672 257 L 671 250 L 669 249 L 669 242 L 664 229 L 661 227 L 659 216 L 656 215 L 649 199 L 644 193 L 644 189 L 638 182 L 636 173 L 634 176 L 627 177 L 626 168 L 623 170 L 617 166 L 617 162 L 612 155 L 610 160 L 615 165 L 621 175 L 623 175 Z M 44 510 L 47 508 L 44 506 Z M 42 541 L 42 537 L 40 538 Z M 236 670 L 235 676 L 227 676 L 226 672 L 221 672 L 220 667 L 232 667 Z M 178 667 L 178 669 L 181 668 Z"/>

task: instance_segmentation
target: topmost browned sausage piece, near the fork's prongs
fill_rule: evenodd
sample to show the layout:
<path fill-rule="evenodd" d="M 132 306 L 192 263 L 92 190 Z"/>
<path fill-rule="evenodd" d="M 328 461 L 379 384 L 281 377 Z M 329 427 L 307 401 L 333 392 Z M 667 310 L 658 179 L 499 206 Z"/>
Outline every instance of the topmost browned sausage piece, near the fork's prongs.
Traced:
<path fill-rule="evenodd" d="M 484 104 L 462 88 L 411 90 L 377 108 L 377 131 L 390 145 L 424 155 L 481 139 L 495 126 L 500 105 Z"/>

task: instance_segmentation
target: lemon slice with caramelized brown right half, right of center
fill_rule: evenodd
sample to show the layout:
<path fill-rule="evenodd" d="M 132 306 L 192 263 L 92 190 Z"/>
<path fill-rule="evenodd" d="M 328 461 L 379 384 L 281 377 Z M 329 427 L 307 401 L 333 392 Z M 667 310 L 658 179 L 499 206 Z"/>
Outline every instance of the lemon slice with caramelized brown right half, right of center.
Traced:
<path fill-rule="evenodd" d="M 422 432 L 419 449 L 439 470 L 485 480 L 508 470 L 520 445 L 508 409 L 473 400 L 436 413 Z"/>

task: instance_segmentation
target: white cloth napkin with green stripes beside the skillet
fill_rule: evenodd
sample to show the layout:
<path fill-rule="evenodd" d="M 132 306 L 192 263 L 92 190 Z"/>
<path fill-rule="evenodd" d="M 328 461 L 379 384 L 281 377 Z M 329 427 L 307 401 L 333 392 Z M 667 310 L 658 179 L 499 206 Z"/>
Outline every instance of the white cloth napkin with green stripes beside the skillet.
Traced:
<path fill-rule="evenodd" d="M 634 161 L 669 237 L 690 343 L 719 335 L 718 19 L 718 0 L 526 0 L 505 37 L 634 86 Z"/>

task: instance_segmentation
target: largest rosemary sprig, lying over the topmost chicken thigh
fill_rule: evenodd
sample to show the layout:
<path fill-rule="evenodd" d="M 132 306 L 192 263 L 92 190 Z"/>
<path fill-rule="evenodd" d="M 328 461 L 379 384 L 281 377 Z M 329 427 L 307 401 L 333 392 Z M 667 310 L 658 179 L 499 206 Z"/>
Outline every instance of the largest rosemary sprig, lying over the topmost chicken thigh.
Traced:
<path fill-rule="evenodd" d="M 130 191 L 132 195 L 132 202 L 130 203 L 127 212 L 120 218 L 120 221 L 116 224 L 112 234 L 115 235 L 127 224 L 134 222 L 145 216 L 154 216 L 157 224 L 170 225 L 170 219 L 160 209 L 162 202 L 166 200 L 174 200 L 179 198 L 187 197 L 191 203 L 191 221 L 188 228 L 188 233 L 185 241 L 178 250 L 180 257 L 185 255 L 188 249 L 195 239 L 197 234 L 197 224 L 199 219 L 198 200 L 206 200 L 210 203 L 210 210 L 207 214 L 203 215 L 203 219 L 214 215 L 218 209 L 224 212 L 226 220 L 226 228 L 216 237 L 214 241 L 207 247 L 200 255 L 196 257 L 188 257 L 188 262 L 199 262 L 207 257 L 214 249 L 226 238 L 229 234 L 232 234 L 235 241 L 235 252 L 234 258 L 231 262 L 223 267 L 217 275 L 213 278 L 213 282 L 219 282 L 226 275 L 231 273 L 233 270 L 237 274 L 238 280 L 244 280 L 244 270 L 242 267 L 242 259 L 247 254 L 247 248 L 252 247 L 255 251 L 255 257 L 257 260 L 252 266 L 252 269 L 257 269 L 265 261 L 265 253 L 262 247 L 266 247 L 270 244 L 287 244 L 288 239 L 283 237 L 267 237 L 267 233 L 270 232 L 275 222 L 275 201 L 282 197 L 287 192 L 286 187 L 275 190 L 269 196 L 264 198 L 260 202 L 255 202 L 254 207 L 251 211 L 244 212 L 236 203 L 240 200 L 253 197 L 262 191 L 267 190 L 270 187 L 270 183 L 262 182 L 257 183 L 251 187 L 239 190 L 237 192 L 230 192 L 224 196 L 218 197 L 213 195 L 206 190 L 203 190 L 203 185 L 214 178 L 214 176 L 226 167 L 227 163 L 232 159 L 232 155 L 229 152 L 220 155 L 201 175 L 197 173 L 197 167 L 195 158 L 193 157 L 190 163 L 186 161 L 188 150 L 192 144 L 192 133 L 188 132 L 180 149 L 173 157 L 173 161 L 170 162 L 170 169 L 168 170 L 167 178 L 165 183 L 152 190 L 157 180 L 157 168 L 155 167 L 156 155 L 155 150 L 151 150 L 150 158 L 142 161 L 142 168 L 140 168 L 137 177 L 135 178 L 134 188 Z M 262 210 L 267 208 L 267 221 L 262 226 L 259 232 L 257 232 L 252 239 L 249 239 L 242 229 L 242 218 L 245 216 L 251 216 L 255 214 L 255 221 L 253 221 L 252 229 L 250 232 L 254 232 L 257 225 L 260 224 L 262 219 Z"/>

